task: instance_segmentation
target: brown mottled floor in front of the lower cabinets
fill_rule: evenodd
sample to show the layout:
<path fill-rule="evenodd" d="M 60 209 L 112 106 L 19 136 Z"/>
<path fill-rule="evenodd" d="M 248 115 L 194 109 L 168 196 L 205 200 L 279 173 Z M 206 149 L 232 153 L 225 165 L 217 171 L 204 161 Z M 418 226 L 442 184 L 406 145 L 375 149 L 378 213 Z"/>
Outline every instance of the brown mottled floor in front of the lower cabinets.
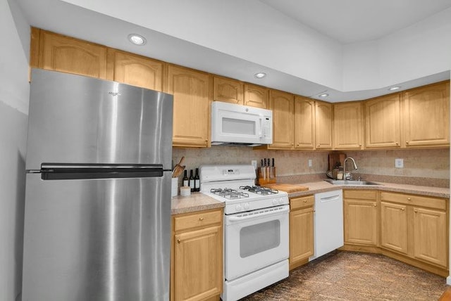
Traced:
<path fill-rule="evenodd" d="M 257 300 L 438 300 L 446 279 L 377 254 L 335 251 L 243 298 Z"/>

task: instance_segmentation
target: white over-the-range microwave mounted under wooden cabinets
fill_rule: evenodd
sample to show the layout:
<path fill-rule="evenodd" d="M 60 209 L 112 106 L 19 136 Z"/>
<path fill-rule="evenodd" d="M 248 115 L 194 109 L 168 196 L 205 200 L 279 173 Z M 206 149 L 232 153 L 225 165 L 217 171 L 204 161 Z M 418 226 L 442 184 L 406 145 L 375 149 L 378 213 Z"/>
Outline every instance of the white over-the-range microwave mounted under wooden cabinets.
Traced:
<path fill-rule="evenodd" d="M 259 146 L 273 143 L 273 111 L 234 103 L 211 104 L 211 145 Z"/>

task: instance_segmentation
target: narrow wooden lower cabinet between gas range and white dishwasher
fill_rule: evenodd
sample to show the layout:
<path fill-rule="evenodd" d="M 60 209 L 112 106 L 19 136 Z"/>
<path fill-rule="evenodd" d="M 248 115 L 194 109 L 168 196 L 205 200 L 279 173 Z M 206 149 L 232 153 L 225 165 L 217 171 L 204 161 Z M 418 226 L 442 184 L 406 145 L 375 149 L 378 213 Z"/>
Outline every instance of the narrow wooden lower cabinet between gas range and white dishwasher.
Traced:
<path fill-rule="evenodd" d="M 314 196 L 290 199 L 290 269 L 309 261 L 314 253 Z"/>

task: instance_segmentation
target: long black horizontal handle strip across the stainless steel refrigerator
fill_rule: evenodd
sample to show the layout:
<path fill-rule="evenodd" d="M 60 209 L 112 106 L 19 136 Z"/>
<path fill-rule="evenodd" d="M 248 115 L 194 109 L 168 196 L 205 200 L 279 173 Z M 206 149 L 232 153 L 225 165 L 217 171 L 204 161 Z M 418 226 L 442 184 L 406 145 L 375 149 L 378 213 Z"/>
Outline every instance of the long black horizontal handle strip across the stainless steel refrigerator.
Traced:
<path fill-rule="evenodd" d="M 61 164 L 42 163 L 41 179 L 123 179 L 163 177 L 161 164 Z"/>

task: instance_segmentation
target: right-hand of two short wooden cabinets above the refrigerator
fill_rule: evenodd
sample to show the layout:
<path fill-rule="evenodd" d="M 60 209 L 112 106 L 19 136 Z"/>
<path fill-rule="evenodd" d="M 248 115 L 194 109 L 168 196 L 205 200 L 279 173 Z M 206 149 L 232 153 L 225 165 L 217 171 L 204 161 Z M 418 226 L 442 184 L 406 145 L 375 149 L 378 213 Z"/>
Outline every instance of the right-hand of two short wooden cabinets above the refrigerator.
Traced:
<path fill-rule="evenodd" d="M 163 91 L 163 62 L 109 49 L 107 77 L 124 84 Z"/>

